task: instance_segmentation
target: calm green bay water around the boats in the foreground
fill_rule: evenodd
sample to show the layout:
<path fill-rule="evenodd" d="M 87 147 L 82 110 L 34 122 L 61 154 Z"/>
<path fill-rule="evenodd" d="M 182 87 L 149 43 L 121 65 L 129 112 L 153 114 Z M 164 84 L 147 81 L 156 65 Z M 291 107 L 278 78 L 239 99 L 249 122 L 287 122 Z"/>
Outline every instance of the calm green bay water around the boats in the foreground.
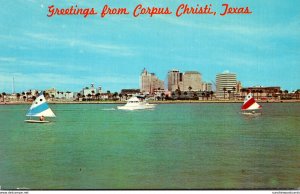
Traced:
<path fill-rule="evenodd" d="M 2 189 L 259 189 L 300 187 L 300 104 L 0 106 Z"/>

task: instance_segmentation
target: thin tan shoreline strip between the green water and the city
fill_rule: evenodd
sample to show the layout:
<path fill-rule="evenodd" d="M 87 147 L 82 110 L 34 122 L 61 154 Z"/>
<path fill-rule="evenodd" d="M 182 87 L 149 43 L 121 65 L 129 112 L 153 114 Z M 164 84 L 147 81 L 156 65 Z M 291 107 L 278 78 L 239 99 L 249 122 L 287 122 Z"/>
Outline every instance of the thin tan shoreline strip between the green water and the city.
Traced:
<path fill-rule="evenodd" d="M 150 104 L 190 104 L 190 103 L 243 103 L 243 100 L 164 100 L 148 101 Z M 299 100 L 257 100 L 258 103 L 300 103 Z M 125 101 L 49 101 L 48 104 L 126 104 Z M 0 105 L 30 105 L 32 102 L 0 102 Z"/>

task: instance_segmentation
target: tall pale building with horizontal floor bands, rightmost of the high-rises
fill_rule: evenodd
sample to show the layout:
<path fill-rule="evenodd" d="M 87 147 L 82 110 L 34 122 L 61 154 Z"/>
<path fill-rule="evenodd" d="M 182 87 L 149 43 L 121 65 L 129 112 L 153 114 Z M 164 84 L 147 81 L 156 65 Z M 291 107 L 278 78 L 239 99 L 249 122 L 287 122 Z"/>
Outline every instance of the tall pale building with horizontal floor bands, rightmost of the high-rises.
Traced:
<path fill-rule="evenodd" d="M 225 88 L 225 97 L 228 96 L 228 91 L 236 90 L 237 80 L 236 74 L 230 73 L 229 71 L 224 71 L 223 73 L 219 73 L 216 76 L 216 96 L 223 97 L 224 96 L 224 88 Z"/>

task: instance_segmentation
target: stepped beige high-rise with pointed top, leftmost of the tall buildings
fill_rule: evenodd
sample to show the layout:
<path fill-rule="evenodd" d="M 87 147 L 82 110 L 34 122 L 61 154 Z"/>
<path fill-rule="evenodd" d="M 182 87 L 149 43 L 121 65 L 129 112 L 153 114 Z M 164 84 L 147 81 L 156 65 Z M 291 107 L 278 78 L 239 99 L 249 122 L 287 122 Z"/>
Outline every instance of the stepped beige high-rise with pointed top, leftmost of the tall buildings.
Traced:
<path fill-rule="evenodd" d="M 154 73 L 149 73 L 145 68 L 140 76 L 141 92 L 153 94 L 154 90 L 164 89 L 164 81 L 158 79 Z"/>

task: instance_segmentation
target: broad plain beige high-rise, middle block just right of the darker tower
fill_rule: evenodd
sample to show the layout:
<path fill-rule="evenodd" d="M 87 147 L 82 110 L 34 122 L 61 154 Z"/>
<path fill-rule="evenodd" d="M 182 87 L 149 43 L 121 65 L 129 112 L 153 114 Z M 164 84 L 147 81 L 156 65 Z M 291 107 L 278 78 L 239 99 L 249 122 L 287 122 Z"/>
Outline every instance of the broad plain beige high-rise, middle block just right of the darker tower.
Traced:
<path fill-rule="evenodd" d="M 197 71 L 186 71 L 183 75 L 182 91 L 200 91 L 202 90 L 201 74 Z"/>

